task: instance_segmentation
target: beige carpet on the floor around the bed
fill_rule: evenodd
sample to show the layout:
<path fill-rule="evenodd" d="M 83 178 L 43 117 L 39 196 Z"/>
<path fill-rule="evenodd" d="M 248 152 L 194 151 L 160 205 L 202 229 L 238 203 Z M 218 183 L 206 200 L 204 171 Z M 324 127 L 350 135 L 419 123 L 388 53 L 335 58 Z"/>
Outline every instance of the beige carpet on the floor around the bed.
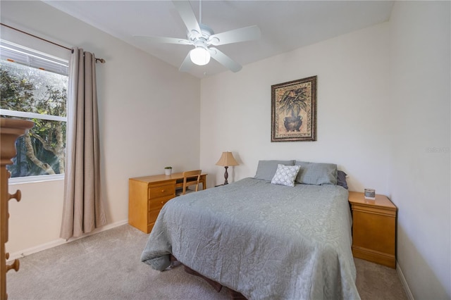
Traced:
<path fill-rule="evenodd" d="M 183 268 L 158 272 L 140 261 L 148 235 L 129 225 L 20 258 L 8 299 L 230 299 Z M 355 260 L 362 299 L 407 299 L 391 268 Z"/>

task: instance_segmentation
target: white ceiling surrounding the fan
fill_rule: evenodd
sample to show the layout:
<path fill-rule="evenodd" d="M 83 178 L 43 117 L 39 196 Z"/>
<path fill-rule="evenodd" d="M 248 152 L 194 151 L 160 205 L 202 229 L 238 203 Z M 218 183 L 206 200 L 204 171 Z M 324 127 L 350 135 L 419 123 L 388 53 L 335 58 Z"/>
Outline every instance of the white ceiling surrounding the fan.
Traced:
<path fill-rule="evenodd" d="M 193 46 L 152 44 L 134 35 L 186 38 L 172 1 L 44 1 L 89 25 L 179 68 Z M 199 1 L 191 0 L 199 20 Z M 215 33 L 258 25 L 261 39 L 218 46 L 237 63 L 282 54 L 347 32 L 383 23 L 393 1 L 202 1 L 202 23 Z M 245 68 L 245 67 L 243 67 Z M 190 72 L 202 78 L 230 72 L 214 60 Z"/>

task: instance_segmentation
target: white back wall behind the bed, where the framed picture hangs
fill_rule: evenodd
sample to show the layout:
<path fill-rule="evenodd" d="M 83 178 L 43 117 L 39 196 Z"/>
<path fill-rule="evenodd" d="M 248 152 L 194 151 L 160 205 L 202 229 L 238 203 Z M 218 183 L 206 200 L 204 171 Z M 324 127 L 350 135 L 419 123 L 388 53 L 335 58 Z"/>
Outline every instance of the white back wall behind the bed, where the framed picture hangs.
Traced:
<path fill-rule="evenodd" d="M 383 23 L 245 65 L 201 82 L 201 167 L 233 151 L 236 181 L 254 176 L 262 159 L 336 163 L 350 189 L 388 193 L 389 25 Z M 271 142 L 271 85 L 317 75 L 317 141 Z M 230 178 L 229 177 L 229 178 Z"/>

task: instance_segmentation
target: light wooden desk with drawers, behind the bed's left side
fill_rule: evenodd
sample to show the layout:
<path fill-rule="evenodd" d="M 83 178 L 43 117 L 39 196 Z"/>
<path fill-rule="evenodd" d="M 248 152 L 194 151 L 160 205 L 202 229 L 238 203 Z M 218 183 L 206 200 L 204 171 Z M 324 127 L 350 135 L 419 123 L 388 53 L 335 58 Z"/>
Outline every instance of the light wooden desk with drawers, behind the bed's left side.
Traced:
<path fill-rule="evenodd" d="M 200 176 L 206 189 L 206 174 Z M 175 189 L 183 186 L 183 173 L 135 177 L 128 180 L 128 223 L 149 233 L 166 202 L 175 197 Z"/>

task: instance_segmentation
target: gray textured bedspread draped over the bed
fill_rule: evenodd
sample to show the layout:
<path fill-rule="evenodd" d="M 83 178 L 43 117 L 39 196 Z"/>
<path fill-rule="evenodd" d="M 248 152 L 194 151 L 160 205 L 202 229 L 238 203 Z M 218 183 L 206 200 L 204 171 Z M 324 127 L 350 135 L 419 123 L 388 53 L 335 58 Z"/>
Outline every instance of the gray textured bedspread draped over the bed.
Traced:
<path fill-rule="evenodd" d="M 360 299 L 347 189 L 245 178 L 163 206 L 141 259 L 169 254 L 247 299 Z"/>

